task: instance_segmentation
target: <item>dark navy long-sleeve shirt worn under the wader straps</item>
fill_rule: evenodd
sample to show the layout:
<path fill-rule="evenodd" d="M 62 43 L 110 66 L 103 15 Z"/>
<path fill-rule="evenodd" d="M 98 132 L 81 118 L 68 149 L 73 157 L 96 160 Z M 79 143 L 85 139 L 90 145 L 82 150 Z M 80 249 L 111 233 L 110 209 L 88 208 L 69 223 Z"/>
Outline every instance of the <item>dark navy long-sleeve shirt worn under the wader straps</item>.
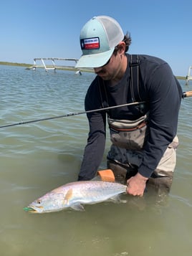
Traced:
<path fill-rule="evenodd" d="M 126 55 L 130 60 L 130 54 Z M 145 177 L 150 177 L 166 148 L 176 136 L 182 91 L 171 67 L 165 61 L 148 55 L 139 55 L 139 58 L 140 96 L 147 103 L 150 115 L 148 140 L 142 149 L 143 161 L 138 167 L 138 172 Z M 107 85 L 107 81 L 102 81 L 98 76 L 95 77 L 87 90 L 85 110 L 102 108 L 106 95 L 109 106 L 130 103 L 132 100 L 129 80 L 129 65 L 117 85 Z M 100 90 L 101 82 L 105 86 L 105 93 Z M 119 120 L 136 120 L 142 115 L 135 106 L 113 108 L 107 114 L 110 118 Z M 79 180 L 89 180 L 95 176 L 105 151 L 106 111 L 87 113 L 87 118 L 90 133 L 85 146 Z"/>

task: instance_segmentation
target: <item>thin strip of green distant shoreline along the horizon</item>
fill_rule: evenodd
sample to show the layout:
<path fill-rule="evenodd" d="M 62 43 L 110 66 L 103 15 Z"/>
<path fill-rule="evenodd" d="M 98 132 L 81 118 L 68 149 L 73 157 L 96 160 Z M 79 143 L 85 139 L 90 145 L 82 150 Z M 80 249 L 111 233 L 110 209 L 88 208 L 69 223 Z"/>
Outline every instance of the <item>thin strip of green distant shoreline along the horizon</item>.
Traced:
<path fill-rule="evenodd" d="M 0 65 L 28 67 L 29 69 L 34 67 L 34 65 L 32 65 L 32 64 L 17 63 L 17 62 L 0 62 Z M 44 68 L 44 67 L 42 66 L 41 68 Z M 57 67 L 57 70 L 77 71 L 77 68 L 75 68 L 75 67 L 67 67 L 67 66 L 60 66 L 60 67 Z M 92 70 L 84 70 L 84 69 L 81 69 L 81 70 L 85 71 L 85 72 L 92 72 Z M 180 76 L 180 75 L 176 75 L 176 78 L 180 79 L 180 80 L 186 80 L 186 77 L 183 77 L 183 76 Z"/>

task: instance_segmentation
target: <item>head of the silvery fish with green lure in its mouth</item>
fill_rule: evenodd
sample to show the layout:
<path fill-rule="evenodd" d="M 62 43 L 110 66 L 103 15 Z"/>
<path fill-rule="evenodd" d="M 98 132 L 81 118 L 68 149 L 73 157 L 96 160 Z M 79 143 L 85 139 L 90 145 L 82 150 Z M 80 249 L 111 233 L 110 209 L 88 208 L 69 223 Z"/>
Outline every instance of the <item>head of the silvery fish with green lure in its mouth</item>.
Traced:
<path fill-rule="evenodd" d="M 34 200 L 28 207 L 24 207 L 25 212 L 44 213 L 56 212 L 64 209 L 64 194 L 49 192 L 39 199 Z"/>

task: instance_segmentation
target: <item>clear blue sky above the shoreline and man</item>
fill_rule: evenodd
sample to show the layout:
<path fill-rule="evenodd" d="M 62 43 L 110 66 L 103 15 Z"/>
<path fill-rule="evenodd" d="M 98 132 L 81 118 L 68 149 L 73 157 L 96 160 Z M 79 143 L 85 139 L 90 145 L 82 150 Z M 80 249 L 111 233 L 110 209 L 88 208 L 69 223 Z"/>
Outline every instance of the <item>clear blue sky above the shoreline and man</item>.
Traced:
<path fill-rule="evenodd" d="M 175 75 L 192 65 L 191 0 L 4 0 L 0 4 L 0 61 L 81 55 L 82 26 L 97 15 L 130 32 L 130 53 L 166 60 Z"/>

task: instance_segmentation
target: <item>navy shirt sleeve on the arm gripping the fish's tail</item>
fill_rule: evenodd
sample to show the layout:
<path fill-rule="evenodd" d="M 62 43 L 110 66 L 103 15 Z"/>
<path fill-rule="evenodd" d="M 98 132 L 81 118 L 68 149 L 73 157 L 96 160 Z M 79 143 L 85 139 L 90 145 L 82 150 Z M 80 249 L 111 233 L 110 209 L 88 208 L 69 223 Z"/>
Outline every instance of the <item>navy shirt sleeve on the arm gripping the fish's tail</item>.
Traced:
<path fill-rule="evenodd" d="M 151 71 L 147 93 L 150 108 L 149 133 L 138 172 L 148 178 L 176 136 L 178 126 L 181 92 L 167 63 Z"/>

